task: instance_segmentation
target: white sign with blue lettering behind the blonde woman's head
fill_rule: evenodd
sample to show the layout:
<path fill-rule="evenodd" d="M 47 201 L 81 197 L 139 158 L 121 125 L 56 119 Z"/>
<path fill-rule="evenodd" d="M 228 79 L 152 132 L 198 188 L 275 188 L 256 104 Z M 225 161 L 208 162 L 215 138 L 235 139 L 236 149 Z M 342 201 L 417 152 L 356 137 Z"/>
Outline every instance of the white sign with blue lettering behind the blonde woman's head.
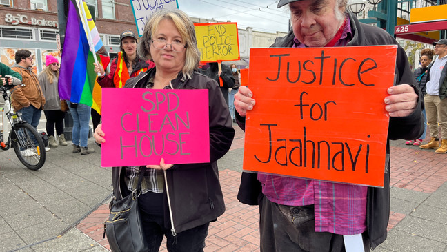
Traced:
<path fill-rule="evenodd" d="M 178 9 L 177 0 L 130 0 L 137 24 L 138 35 L 141 37 L 150 16 L 159 10 Z"/>

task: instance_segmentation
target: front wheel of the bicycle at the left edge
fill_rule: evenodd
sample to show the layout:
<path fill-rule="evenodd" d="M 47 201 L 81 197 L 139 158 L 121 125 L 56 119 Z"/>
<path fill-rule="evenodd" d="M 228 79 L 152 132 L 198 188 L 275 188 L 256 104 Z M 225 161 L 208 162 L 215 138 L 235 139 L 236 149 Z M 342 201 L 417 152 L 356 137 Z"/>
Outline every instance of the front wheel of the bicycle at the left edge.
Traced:
<path fill-rule="evenodd" d="M 30 170 L 39 170 L 45 163 L 46 151 L 42 137 L 27 122 L 15 124 L 11 130 L 11 145 L 20 162 Z"/>

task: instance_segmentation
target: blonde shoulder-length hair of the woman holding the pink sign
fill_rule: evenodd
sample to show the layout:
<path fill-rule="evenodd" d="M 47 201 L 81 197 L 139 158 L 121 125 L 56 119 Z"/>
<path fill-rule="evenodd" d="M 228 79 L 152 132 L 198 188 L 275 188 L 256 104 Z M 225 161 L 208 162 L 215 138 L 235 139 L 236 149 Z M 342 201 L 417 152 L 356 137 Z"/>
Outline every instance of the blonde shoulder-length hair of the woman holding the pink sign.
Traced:
<path fill-rule="evenodd" d="M 186 43 L 185 65 L 181 72 L 183 73 L 183 76 L 190 79 L 192 77 L 192 72 L 199 66 L 200 51 L 199 48 L 197 48 L 194 24 L 185 12 L 175 9 L 161 10 L 153 14 L 144 27 L 143 36 L 140 38 L 137 52 L 143 59 L 152 59 L 152 56 L 150 55 L 152 36 L 157 30 L 160 22 L 165 19 L 174 23 L 174 26 L 179 30 L 181 39 Z"/>

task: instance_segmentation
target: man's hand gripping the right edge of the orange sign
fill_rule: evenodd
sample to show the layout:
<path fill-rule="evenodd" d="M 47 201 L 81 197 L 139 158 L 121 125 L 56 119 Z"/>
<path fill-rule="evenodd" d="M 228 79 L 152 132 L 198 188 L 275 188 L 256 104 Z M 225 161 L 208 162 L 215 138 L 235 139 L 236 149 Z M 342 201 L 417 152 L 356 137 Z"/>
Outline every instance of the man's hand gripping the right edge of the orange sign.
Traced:
<path fill-rule="evenodd" d="M 418 95 L 412 86 L 401 84 L 388 88 L 390 96 L 385 98 L 385 109 L 390 117 L 406 117 L 415 111 Z"/>

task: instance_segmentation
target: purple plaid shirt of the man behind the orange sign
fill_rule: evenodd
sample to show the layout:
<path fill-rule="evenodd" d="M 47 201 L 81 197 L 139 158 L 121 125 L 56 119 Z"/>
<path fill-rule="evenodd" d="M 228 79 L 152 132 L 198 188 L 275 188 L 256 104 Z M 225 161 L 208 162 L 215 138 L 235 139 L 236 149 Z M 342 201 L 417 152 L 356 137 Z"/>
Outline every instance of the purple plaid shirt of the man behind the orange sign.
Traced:
<path fill-rule="evenodd" d="M 335 46 L 346 46 L 352 38 L 350 20 Z M 292 47 L 305 47 L 295 37 Z M 355 235 L 366 231 L 367 186 L 306 180 L 259 173 L 262 193 L 268 200 L 287 206 L 315 205 L 315 231 Z"/>

